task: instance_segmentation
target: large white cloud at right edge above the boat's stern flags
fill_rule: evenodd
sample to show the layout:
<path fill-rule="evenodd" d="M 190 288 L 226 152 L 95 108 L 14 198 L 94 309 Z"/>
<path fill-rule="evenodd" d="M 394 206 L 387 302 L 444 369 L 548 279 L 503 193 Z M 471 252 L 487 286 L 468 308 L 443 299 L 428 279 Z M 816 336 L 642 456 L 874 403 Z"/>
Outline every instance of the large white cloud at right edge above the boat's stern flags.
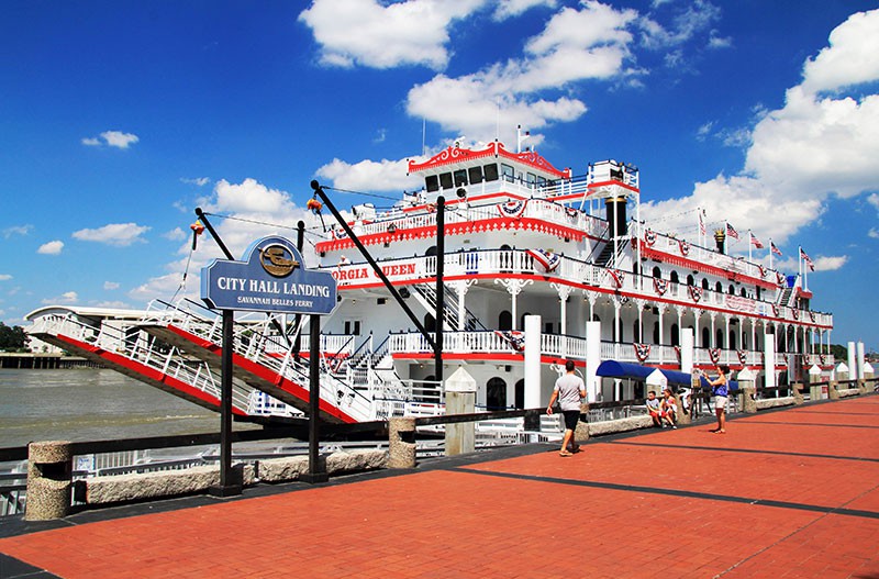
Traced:
<path fill-rule="evenodd" d="M 753 229 L 758 237 L 772 237 L 780 244 L 819 219 L 830 196 L 876 191 L 879 94 L 855 99 L 820 91 L 879 80 L 876 63 L 857 70 L 842 65 L 830 70 L 841 55 L 856 58 L 859 52 L 879 52 L 875 51 L 877 27 L 879 11 L 850 16 L 831 33 L 831 45 L 806 60 L 802 85 L 788 89 L 782 108 L 755 108 L 757 121 L 749 134 L 742 130 L 716 133 L 726 144 L 748 146 L 741 175 L 719 175 L 697 183 L 690 197 L 647 204 L 648 214 L 660 207 L 674 214 L 699 205 L 708 210 L 709 221 L 726 219 L 739 232 Z M 870 197 L 868 202 L 879 208 L 879 200 Z M 685 221 L 680 226 L 690 226 Z M 827 259 L 825 268 L 845 263 L 844 258 Z"/>

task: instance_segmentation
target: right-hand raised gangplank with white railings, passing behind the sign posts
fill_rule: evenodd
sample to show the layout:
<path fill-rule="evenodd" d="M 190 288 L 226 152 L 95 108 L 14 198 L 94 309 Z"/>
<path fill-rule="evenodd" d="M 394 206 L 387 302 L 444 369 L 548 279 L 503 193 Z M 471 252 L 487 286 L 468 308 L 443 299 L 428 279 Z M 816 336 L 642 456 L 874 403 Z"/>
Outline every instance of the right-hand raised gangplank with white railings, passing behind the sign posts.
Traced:
<path fill-rule="evenodd" d="M 166 304 L 168 305 L 168 304 Z M 183 308 L 186 305 L 186 309 Z M 219 374 L 222 355 L 222 319 L 198 304 L 181 302 L 166 310 L 153 310 L 140 327 L 164 343 L 205 363 Z M 372 401 L 353 385 L 338 380 L 321 360 L 293 354 L 292 336 L 279 334 L 277 322 L 260 314 L 254 321 L 238 321 L 233 331 L 233 376 L 252 388 L 303 412 L 309 407 L 309 365 L 321 365 L 321 416 L 330 422 L 374 420 Z"/>

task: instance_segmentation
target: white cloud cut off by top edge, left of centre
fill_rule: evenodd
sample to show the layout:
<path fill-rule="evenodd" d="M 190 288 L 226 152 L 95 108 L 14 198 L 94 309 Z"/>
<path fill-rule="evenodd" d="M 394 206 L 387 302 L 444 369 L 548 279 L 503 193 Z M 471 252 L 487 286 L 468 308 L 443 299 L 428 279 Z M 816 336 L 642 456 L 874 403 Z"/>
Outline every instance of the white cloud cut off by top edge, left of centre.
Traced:
<path fill-rule="evenodd" d="M 299 14 L 321 46 L 326 66 L 392 68 L 448 63 L 448 29 L 486 0 L 314 0 Z"/>

